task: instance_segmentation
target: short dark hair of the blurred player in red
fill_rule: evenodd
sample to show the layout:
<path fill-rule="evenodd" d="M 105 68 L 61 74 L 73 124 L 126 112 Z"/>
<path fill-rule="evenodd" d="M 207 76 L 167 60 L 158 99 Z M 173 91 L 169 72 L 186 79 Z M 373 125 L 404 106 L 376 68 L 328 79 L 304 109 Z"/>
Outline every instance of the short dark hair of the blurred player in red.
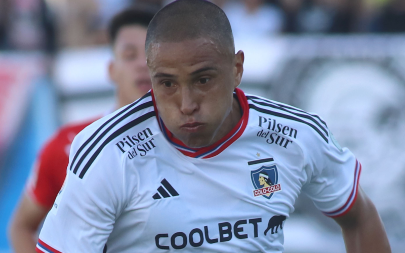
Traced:
<path fill-rule="evenodd" d="M 117 34 L 121 28 L 127 25 L 141 25 L 148 27 L 155 12 L 147 8 L 128 8 L 116 14 L 108 25 L 108 37 L 111 44 L 115 43 Z"/>

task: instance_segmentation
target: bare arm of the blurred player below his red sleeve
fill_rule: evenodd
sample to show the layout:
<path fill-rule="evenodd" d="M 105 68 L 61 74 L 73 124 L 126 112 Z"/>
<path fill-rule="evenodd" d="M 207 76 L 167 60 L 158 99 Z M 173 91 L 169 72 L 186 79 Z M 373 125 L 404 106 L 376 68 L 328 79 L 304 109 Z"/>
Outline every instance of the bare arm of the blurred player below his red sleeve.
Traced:
<path fill-rule="evenodd" d="M 34 253 L 39 224 L 48 209 L 33 202 L 25 193 L 9 227 L 9 237 L 16 253 Z"/>

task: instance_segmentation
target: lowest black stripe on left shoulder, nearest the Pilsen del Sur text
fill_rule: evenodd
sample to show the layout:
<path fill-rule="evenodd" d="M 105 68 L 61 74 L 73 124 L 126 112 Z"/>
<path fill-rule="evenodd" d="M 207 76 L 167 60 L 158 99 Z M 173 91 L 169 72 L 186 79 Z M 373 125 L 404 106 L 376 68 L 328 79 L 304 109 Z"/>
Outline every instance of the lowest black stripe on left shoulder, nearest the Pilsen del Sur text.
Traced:
<path fill-rule="evenodd" d="M 124 125 L 123 127 L 121 127 L 120 129 L 118 129 L 117 131 L 115 131 L 112 135 L 108 136 L 107 139 L 105 139 L 105 141 L 103 142 L 103 144 L 100 145 L 100 147 L 93 153 L 93 155 L 90 157 L 89 161 L 86 163 L 86 165 L 83 167 L 83 170 L 80 172 L 79 174 L 79 178 L 83 179 L 83 177 L 85 176 L 87 170 L 89 170 L 89 167 L 92 165 L 92 163 L 94 162 L 94 160 L 97 158 L 98 154 L 100 154 L 101 150 L 109 143 L 111 142 L 113 139 L 115 139 L 117 136 L 121 135 L 122 133 L 128 131 L 129 129 L 133 128 L 135 125 L 142 123 L 143 121 L 154 117 L 156 115 L 155 111 L 151 111 L 148 113 L 143 114 L 142 116 L 132 120 L 131 122 L 129 122 L 128 124 Z"/>

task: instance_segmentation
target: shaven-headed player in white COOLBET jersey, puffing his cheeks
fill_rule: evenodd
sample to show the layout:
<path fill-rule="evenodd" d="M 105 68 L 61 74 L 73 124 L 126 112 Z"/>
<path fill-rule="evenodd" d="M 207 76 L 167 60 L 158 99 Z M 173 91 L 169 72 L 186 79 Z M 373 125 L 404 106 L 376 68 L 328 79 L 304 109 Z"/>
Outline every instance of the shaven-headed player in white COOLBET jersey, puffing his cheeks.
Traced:
<path fill-rule="evenodd" d="M 37 252 L 282 252 L 301 192 L 348 252 L 390 252 L 360 163 L 326 123 L 236 88 L 245 56 L 220 8 L 167 5 L 145 49 L 152 91 L 76 136 Z"/>

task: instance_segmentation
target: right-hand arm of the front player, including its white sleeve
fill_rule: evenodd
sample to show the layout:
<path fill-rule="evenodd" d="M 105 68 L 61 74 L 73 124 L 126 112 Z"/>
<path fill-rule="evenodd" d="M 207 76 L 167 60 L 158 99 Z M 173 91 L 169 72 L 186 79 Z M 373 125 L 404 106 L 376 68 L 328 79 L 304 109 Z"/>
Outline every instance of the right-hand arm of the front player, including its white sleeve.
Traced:
<path fill-rule="evenodd" d="M 309 181 L 303 191 L 341 226 L 347 252 L 391 252 L 376 207 L 358 187 L 360 162 L 350 150 L 340 147 L 331 132 L 328 141 L 312 137 L 308 143 L 314 145 L 305 149 Z"/>

